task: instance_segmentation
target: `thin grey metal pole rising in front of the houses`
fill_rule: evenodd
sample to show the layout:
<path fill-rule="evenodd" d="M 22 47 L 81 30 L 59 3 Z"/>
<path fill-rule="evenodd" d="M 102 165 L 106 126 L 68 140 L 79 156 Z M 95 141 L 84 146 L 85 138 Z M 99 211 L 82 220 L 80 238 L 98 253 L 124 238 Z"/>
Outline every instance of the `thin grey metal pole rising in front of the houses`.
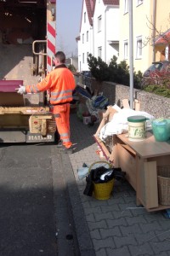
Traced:
<path fill-rule="evenodd" d="M 129 0 L 130 108 L 133 109 L 133 0 Z"/>

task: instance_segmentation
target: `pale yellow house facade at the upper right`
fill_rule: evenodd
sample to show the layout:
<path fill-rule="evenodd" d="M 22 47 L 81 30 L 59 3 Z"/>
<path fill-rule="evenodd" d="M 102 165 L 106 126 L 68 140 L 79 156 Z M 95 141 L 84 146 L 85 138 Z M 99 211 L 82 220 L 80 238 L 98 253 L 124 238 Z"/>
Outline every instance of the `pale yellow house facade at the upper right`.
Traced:
<path fill-rule="evenodd" d="M 129 1 L 133 1 L 132 16 L 129 16 Z M 133 22 L 133 44 L 130 47 L 133 49 L 134 71 L 144 73 L 153 61 L 168 60 L 170 0 L 120 0 L 118 61 L 127 61 L 128 65 L 131 22 Z M 161 40 L 164 33 L 166 40 Z"/>

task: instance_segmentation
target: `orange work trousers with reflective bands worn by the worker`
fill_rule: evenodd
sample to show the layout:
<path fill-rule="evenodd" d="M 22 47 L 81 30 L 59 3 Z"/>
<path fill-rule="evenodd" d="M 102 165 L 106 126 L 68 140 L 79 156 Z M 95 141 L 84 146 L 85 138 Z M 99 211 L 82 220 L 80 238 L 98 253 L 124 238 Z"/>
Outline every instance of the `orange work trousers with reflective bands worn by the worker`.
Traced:
<path fill-rule="evenodd" d="M 70 103 L 54 105 L 53 113 L 60 140 L 65 148 L 70 148 L 72 145 L 70 138 Z"/>

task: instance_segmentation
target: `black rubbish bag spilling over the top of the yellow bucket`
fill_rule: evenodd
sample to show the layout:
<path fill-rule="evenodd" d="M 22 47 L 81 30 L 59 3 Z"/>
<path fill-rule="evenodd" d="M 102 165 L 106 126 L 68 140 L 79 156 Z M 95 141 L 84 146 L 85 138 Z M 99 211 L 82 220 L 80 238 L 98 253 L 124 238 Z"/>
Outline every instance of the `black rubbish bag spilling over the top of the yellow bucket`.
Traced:
<path fill-rule="evenodd" d="M 92 169 L 86 177 L 86 188 L 83 191 L 84 195 L 92 196 L 94 193 L 95 184 L 110 183 L 114 179 L 124 180 L 126 172 L 122 172 L 121 168 L 106 168 L 99 166 Z"/>

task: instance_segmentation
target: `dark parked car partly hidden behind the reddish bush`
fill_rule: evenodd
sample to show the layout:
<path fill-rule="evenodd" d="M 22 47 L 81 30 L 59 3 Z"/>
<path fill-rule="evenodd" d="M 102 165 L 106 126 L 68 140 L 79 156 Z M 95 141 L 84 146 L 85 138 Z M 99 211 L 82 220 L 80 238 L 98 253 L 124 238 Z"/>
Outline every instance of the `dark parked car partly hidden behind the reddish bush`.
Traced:
<path fill-rule="evenodd" d="M 161 84 L 163 79 L 170 78 L 170 61 L 155 61 L 143 74 L 142 86 Z"/>

